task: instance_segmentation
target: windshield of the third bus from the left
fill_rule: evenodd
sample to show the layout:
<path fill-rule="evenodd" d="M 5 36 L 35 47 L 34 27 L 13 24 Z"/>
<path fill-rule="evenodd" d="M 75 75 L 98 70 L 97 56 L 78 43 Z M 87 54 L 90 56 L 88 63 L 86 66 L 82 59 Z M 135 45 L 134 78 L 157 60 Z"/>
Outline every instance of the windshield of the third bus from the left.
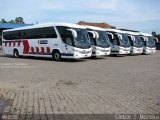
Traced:
<path fill-rule="evenodd" d="M 120 45 L 123 47 L 130 47 L 130 42 L 129 42 L 127 35 L 125 33 L 119 33 L 119 34 L 122 35 L 122 39 L 119 38 Z"/>

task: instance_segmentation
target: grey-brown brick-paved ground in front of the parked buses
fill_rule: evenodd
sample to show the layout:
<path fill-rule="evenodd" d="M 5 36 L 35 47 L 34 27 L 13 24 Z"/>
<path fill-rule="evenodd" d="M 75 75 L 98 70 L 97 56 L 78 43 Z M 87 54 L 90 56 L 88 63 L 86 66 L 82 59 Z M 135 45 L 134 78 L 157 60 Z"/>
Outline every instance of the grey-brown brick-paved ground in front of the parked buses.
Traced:
<path fill-rule="evenodd" d="M 0 108 L 4 115 L 42 119 L 66 113 L 160 114 L 160 51 L 62 62 L 0 53 Z"/>

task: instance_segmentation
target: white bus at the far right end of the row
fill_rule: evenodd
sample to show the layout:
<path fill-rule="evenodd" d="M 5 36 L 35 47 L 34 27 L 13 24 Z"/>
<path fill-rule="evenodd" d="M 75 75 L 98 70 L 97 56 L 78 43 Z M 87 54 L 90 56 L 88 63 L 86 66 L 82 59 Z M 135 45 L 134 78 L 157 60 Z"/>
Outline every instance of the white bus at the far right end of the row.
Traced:
<path fill-rule="evenodd" d="M 158 39 L 148 33 L 139 33 L 143 41 L 143 54 L 152 54 L 156 52 L 156 42 Z"/>

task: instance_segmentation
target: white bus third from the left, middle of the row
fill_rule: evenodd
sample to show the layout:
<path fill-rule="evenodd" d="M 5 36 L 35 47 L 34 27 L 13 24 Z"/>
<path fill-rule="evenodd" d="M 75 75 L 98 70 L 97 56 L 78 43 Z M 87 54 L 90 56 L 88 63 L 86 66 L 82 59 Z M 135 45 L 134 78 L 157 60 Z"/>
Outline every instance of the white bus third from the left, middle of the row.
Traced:
<path fill-rule="evenodd" d="M 117 29 L 105 29 L 111 41 L 111 54 L 130 54 L 130 42 L 127 34 Z"/>

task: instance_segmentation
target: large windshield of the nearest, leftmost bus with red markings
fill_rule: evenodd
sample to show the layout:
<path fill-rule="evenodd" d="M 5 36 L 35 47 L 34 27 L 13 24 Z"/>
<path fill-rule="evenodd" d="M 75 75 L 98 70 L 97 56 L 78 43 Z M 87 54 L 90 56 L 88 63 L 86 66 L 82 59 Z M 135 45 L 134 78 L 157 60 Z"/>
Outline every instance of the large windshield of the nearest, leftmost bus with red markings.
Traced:
<path fill-rule="evenodd" d="M 77 32 L 77 37 L 74 40 L 74 46 L 78 48 L 91 48 L 90 40 L 88 38 L 87 30 L 73 28 Z"/>

